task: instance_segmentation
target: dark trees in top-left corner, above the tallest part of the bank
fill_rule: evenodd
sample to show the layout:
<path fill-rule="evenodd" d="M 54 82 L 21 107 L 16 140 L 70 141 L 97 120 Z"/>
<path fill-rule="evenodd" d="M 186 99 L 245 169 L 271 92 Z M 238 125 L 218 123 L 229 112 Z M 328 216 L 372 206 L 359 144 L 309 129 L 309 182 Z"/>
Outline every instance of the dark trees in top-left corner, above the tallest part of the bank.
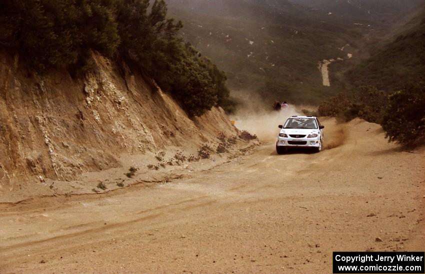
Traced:
<path fill-rule="evenodd" d="M 113 1 L 5 0 L 0 47 L 37 71 L 86 63 L 89 50 L 111 57 L 119 44 Z"/>

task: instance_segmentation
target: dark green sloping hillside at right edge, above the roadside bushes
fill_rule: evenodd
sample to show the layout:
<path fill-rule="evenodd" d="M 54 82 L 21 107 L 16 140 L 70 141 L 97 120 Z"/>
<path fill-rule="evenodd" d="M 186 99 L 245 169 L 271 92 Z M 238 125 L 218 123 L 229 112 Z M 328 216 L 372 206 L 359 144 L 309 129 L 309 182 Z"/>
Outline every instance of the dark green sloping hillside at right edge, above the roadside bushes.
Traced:
<path fill-rule="evenodd" d="M 354 86 L 370 85 L 394 91 L 425 79 L 425 9 L 406 26 L 408 29 L 392 42 L 348 71 L 345 75 L 348 81 Z"/>

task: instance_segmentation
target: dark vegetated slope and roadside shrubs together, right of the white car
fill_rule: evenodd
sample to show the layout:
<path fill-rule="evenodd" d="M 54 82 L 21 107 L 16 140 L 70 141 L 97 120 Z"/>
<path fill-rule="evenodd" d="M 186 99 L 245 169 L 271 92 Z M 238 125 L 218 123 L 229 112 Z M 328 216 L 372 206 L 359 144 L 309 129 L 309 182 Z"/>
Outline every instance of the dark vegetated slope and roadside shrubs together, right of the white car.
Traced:
<path fill-rule="evenodd" d="M 348 91 L 322 102 L 320 115 L 379 123 L 404 148 L 425 144 L 425 7 L 413 15 L 392 42 L 339 79 Z"/>

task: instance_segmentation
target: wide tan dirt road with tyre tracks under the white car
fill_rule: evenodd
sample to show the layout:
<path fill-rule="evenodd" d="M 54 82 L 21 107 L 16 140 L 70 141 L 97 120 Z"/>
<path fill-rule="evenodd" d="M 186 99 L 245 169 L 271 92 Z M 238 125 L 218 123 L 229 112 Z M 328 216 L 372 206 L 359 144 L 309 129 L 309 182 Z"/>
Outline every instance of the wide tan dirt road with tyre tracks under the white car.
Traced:
<path fill-rule="evenodd" d="M 0 272 L 330 273 L 336 250 L 424 250 L 425 151 L 321 122 L 318 154 L 268 143 L 164 184 L 0 205 Z"/>

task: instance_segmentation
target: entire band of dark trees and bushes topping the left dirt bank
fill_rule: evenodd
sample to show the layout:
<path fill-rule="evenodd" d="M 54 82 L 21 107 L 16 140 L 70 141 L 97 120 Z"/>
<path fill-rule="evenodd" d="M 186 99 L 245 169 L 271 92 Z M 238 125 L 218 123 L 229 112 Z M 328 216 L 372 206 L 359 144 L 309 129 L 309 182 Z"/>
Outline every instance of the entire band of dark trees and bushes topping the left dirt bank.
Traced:
<path fill-rule="evenodd" d="M 155 79 L 192 116 L 227 106 L 226 77 L 178 38 L 163 0 L 6 0 L 0 3 L 0 48 L 38 72 L 86 70 L 90 52 L 120 56 Z"/>

